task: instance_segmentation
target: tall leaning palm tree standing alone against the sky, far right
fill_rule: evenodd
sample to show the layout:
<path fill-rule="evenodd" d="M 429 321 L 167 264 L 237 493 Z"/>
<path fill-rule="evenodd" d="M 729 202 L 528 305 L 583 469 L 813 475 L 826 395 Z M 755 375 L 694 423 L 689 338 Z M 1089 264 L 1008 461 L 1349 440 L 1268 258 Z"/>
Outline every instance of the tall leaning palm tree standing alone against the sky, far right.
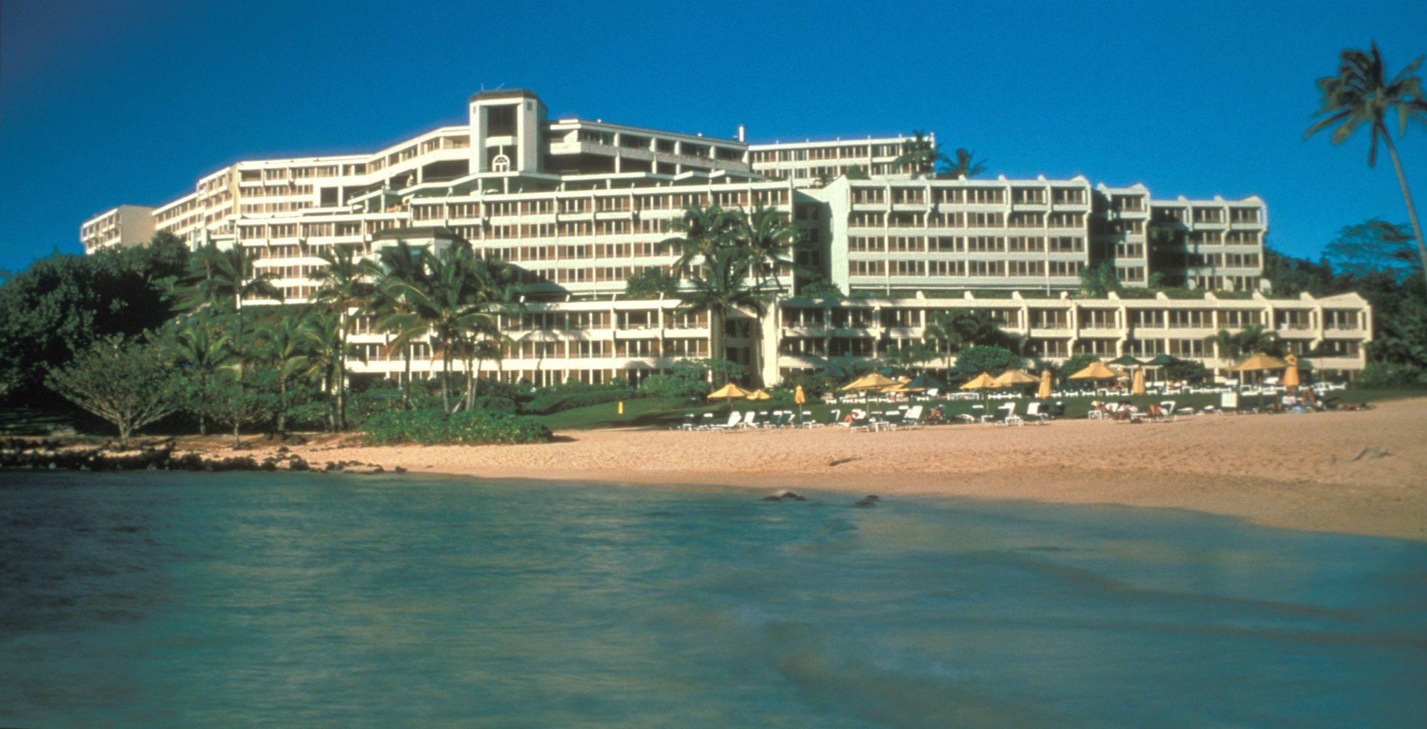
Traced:
<path fill-rule="evenodd" d="M 1421 257 L 1423 270 L 1427 271 L 1427 245 L 1423 244 L 1423 227 L 1417 221 L 1417 207 L 1407 188 L 1403 161 L 1397 158 L 1397 147 L 1387 128 L 1387 116 L 1394 110 L 1398 134 L 1407 134 L 1407 121 L 1410 120 L 1427 123 L 1423 83 L 1421 78 L 1411 76 L 1421 66 L 1424 57 L 1418 56 L 1417 60 L 1408 63 L 1391 81 L 1387 80 L 1387 68 L 1383 64 L 1383 54 L 1377 50 L 1377 43 L 1373 43 L 1368 53 L 1346 49 L 1340 58 L 1337 76 L 1319 78 L 1323 106 L 1313 116 L 1329 114 L 1329 117 L 1309 127 L 1309 131 L 1303 133 L 1303 138 L 1309 138 L 1333 124 L 1340 124 L 1339 128 L 1333 130 L 1333 144 L 1343 144 L 1361 124 L 1367 123 L 1368 128 L 1373 130 L 1373 141 L 1367 148 L 1367 165 L 1376 167 L 1377 140 L 1381 137 L 1383 144 L 1387 146 L 1387 154 L 1393 158 L 1397 184 L 1403 188 L 1407 217 L 1413 221 L 1413 233 L 1417 235 L 1417 255 Z"/>

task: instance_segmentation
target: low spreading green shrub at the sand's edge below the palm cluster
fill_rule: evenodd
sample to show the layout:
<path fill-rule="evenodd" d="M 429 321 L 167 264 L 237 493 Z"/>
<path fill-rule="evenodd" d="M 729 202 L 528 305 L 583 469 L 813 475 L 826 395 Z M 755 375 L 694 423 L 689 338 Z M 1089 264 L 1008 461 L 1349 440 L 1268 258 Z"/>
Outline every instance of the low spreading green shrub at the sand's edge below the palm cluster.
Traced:
<path fill-rule="evenodd" d="M 391 411 L 367 421 L 372 444 L 531 444 L 548 442 L 549 428 L 529 418 L 477 409 L 450 415 L 440 409 Z"/>

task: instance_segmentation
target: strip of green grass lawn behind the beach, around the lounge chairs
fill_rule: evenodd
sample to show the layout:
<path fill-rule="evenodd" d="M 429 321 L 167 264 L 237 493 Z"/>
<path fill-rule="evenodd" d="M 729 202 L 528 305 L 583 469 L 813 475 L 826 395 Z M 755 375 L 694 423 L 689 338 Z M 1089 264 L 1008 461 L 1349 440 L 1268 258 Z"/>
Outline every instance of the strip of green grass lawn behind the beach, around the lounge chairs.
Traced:
<path fill-rule="evenodd" d="M 1427 392 L 1420 389 L 1344 389 L 1333 394 L 1340 402 L 1381 402 L 1387 399 L 1403 399 L 1413 397 L 1424 397 Z M 1066 418 L 1085 418 L 1085 414 L 1090 409 L 1090 402 L 1097 398 L 1065 398 L 1066 404 Z M 1219 405 L 1219 395 L 1177 395 L 1174 398 L 1162 397 L 1132 397 L 1132 398 L 1112 398 L 1112 399 L 1129 399 L 1140 408 L 1146 408 L 1150 404 L 1159 404 L 1162 399 L 1174 399 L 1176 407 L 1192 407 L 1194 409 L 1203 408 L 1204 405 Z M 1253 397 L 1244 398 L 1240 405 L 1251 405 Z M 1030 402 L 1027 398 L 1009 401 L 1009 399 L 992 399 L 989 401 L 989 408 L 1000 407 L 1006 402 L 1016 402 L 1016 412 L 1025 412 L 1026 405 Z M 959 415 L 970 412 L 972 405 L 976 402 L 968 399 L 958 399 L 945 402 L 948 412 L 950 415 Z M 733 409 L 745 411 L 749 404 L 735 401 Z M 926 404 L 923 404 L 926 405 Z M 604 405 L 589 405 L 584 408 L 567 409 L 562 412 L 554 412 L 549 415 L 537 415 L 538 422 L 545 424 L 551 429 L 574 429 L 585 431 L 595 428 L 675 428 L 684 421 L 685 412 L 692 412 L 695 415 L 702 415 L 704 412 L 728 412 L 723 402 L 705 404 L 705 402 L 688 402 L 678 404 L 674 401 L 658 401 L 658 399 L 628 399 L 624 404 L 624 415 L 618 412 L 618 404 L 608 402 Z M 812 412 L 812 418 L 818 422 L 828 422 L 833 409 L 841 409 L 843 415 L 849 409 L 858 405 L 825 405 L 822 402 L 808 402 L 802 407 L 805 411 Z M 888 409 L 896 405 L 888 405 L 885 402 L 875 402 L 869 409 Z M 792 401 L 769 399 L 756 404 L 759 411 L 775 411 L 775 409 L 793 409 Z"/>

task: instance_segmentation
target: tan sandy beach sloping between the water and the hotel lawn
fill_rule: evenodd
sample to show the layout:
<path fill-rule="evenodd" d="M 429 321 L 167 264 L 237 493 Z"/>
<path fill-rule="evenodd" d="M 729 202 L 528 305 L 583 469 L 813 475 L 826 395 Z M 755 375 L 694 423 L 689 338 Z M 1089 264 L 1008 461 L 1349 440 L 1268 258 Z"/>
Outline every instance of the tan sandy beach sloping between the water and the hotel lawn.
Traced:
<path fill-rule="evenodd" d="M 1197 415 L 1139 425 L 557 435 L 558 442 L 544 445 L 314 442 L 291 449 L 314 467 L 362 461 L 482 478 L 1163 506 L 1290 529 L 1427 541 L 1427 398 L 1359 412 Z"/>

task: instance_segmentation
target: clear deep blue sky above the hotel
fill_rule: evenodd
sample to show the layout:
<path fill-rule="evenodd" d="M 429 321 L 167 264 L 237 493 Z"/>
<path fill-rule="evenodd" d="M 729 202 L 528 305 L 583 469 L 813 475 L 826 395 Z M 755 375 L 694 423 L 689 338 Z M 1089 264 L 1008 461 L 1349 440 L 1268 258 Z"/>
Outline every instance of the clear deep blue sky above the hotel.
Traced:
<path fill-rule="evenodd" d="M 1314 78 L 1374 39 L 1393 71 L 1427 53 L 1427 1 L 4 0 L 0 268 L 78 251 L 84 218 L 235 160 L 461 123 L 482 86 L 557 117 L 752 141 L 930 128 L 992 175 L 1259 194 L 1270 244 L 1317 257 L 1343 225 L 1407 220 L 1366 134 L 1300 141 Z M 1427 205 L 1427 128 L 1400 150 Z"/>

